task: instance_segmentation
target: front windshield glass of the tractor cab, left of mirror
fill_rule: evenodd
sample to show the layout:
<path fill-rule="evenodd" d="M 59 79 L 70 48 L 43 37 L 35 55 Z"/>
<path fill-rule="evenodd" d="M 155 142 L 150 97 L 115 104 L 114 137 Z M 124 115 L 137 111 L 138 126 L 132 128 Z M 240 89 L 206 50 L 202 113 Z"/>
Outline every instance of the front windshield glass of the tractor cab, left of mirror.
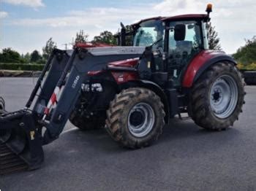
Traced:
<path fill-rule="evenodd" d="M 140 23 L 137 28 L 135 36 L 133 38 L 133 45 L 136 47 L 148 47 L 154 42 L 159 41 L 157 44 L 161 45 L 163 38 L 164 27 L 162 26 L 162 21 L 160 20 L 146 20 Z"/>

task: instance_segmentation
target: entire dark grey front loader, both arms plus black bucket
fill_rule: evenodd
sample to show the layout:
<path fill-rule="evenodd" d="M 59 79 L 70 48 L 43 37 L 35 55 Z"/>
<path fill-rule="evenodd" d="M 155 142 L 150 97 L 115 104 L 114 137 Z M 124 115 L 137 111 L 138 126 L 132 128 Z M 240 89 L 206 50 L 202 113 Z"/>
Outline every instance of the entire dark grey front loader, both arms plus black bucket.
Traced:
<path fill-rule="evenodd" d="M 12 163 L 6 157 L 11 153 L 19 159 L 19 163 L 11 164 L 15 166 L 13 171 L 20 169 L 20 160 L 27 169 L 39 168 L 43 161 L 42 145 L 59 137 L 80 96 L 81 85 L 90 78 L 88 72 L 105 70 L 109 62 L 138 58 L 143 51 L 144 47 L 53 50 L 26 108 L 0 114 L 0 162 Z M 32 103 L 34 107 L 29 109 Z M 12 171 L 5 167 L 0 168 L 0 174 Z"/>

